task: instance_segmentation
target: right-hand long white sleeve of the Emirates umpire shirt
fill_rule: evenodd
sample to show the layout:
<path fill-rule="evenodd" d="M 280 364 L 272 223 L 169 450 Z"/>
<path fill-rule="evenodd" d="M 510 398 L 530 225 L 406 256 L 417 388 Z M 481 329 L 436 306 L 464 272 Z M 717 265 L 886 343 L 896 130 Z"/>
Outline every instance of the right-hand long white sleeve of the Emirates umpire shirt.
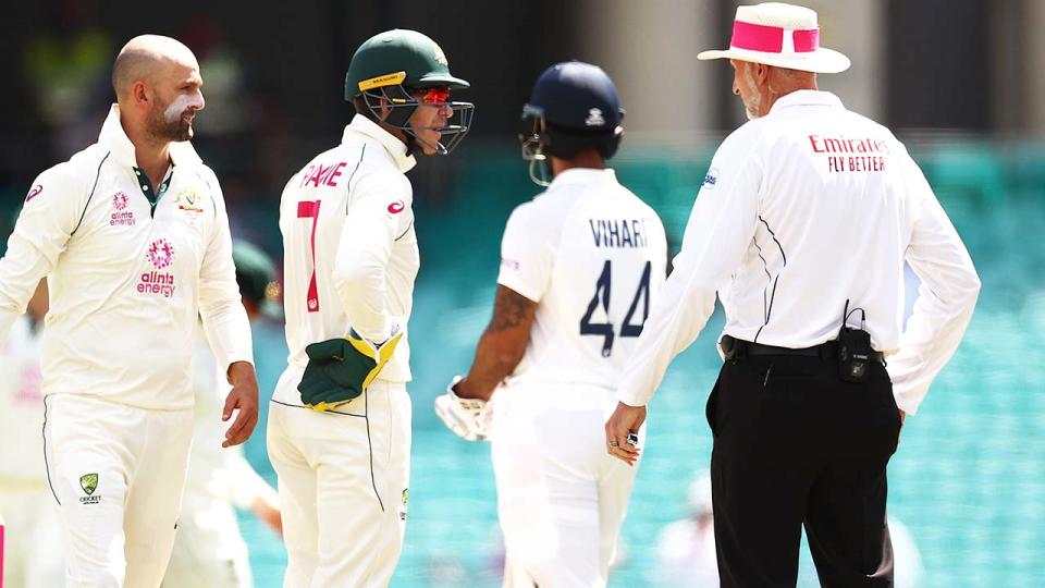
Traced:
<path fill-rule="evenodd" d="M 905 181 L 913 200 L 911 242 L 905 257 L 922 283 L 887 369 L 897 406 L 914 414 L 958 348 L 976 305 L 980 278 L 950 219 L 909 157 Z"/>

